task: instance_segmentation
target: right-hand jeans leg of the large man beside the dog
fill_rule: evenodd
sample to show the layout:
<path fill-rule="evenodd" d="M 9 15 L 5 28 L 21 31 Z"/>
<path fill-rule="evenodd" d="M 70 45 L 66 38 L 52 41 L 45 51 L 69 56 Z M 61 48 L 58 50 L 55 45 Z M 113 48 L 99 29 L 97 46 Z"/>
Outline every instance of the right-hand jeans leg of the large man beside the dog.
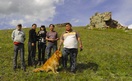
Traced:
<path fill-rule="evenodd" d="M 70 49 L 70 66 L 71 72 L 76 72 L 76 59 L 77 59 L 78 50 L 77 49 Z"/>

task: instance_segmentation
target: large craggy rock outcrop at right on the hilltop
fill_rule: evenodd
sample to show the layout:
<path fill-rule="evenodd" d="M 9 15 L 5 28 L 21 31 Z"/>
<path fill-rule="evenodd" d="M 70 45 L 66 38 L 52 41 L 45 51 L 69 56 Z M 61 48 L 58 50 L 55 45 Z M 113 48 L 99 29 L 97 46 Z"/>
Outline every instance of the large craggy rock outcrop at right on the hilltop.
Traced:
<path fill-rule="evenodd" d="M 123 26 L 118 21 L 112 19 L 111 12 L 95 13 L 95 15 L 90 18 L 90 24 L 88 26 L 90 29 L 123 28 Z"/>

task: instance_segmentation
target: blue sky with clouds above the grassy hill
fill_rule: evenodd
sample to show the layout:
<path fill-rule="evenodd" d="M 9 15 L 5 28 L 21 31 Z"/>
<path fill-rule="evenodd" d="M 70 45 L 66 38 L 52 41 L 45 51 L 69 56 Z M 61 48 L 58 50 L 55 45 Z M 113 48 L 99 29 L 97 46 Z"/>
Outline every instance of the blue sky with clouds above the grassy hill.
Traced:
<path fill-rule="evenodd" d="M 21 23 L 49 26 L 70 22 L 86 26 L 96 12 L 112 12 L 123 26 L 132 24 L 132 0 L 0 0 L 0 29 L 14 29 Z"/>

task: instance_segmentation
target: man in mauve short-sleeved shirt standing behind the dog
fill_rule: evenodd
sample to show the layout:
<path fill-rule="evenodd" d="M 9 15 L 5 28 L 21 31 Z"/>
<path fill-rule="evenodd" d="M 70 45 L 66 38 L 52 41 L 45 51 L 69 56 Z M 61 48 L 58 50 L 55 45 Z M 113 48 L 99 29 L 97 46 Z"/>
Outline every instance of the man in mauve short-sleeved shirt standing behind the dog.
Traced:
<path fill-rule="evenodd" d="M 53 52 L 57 50 L 57 40 L 58 33 L 54 31 L 55 26 L 53 24 L 49 25 L 50 31 L 46 34 L 46 40 L 48 41 L 48 45 L 46 48 L 47 51 L 47 59 L 51 56 L 51 50 L 53 49 Z"/>

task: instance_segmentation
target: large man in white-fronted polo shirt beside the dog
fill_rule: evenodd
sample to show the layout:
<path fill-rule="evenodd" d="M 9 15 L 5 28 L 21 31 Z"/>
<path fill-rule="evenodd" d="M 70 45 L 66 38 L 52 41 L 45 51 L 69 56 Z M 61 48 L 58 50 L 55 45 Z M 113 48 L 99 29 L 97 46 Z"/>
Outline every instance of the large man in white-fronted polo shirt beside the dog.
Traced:
<path fill-rule="evenodd" d="M 63 43 L 64 47 L 62 50 L 62 66 L 64 69 L 67 68 L 68 54 L 70 54 L 70 70 L 72 73 L 76 72 L 76 58 L 78 54 L 78 42 L 80 50 L 82 50 L 82 42 L 80 36 L 77 32 L 72 30 L 72 25 L 70 23 L 66 24 L 66 31 L 62 34 L 60 38 L 60 45 Z"/>

